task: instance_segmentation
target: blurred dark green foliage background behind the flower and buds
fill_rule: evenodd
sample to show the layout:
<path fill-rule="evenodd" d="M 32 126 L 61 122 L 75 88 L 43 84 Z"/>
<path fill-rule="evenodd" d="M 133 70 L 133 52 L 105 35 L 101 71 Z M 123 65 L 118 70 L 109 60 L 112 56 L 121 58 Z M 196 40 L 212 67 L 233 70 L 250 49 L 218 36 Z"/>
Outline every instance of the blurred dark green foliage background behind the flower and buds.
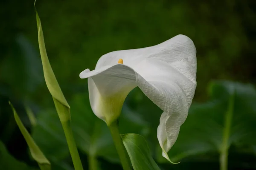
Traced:
<path fill-rule="evenodd" d="M 10 100 L 52 169 L 72 170 L 44 82 L 33 4 L 0 2 L 0 169 L 38 169 Z M 163 170 L 217 170 L 225 144 L 230 170 L 256 170 L 255 0 L 38 0 L 36 6 L 52 69 L 71 107 L 84 169 L 92 162 L 99 170 L 121 166 L 105 123 L 91 111 L 87 80 L 79 79 L 79 73 L 93 70 L 99 57 L 110 51 L 143 48 L 185 34 L 197 48 L 198 85 L 169 152 L 171 160 L 181 163 L 169 164 L 161 156 L 157 126 L 162 111 L 138 88 L 125 100 L 120 131 L 143 135 Z"/>

